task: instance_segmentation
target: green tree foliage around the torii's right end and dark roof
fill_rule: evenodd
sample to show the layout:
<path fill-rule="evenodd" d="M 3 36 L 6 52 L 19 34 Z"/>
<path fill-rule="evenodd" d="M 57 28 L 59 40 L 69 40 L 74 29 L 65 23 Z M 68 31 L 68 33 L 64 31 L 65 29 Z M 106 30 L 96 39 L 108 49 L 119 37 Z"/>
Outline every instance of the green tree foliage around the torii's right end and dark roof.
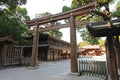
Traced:
<path fill-rule="evenodd" d="M 74 9 L 77 7 L 81 7 L 86 5 L 94 0 L 73 0 L 70 9 Z M 109 3 L 113 3 L 114 0 L 97 0 L 97 6 L 94 10 L 91 11 L 91 14 L 84 14 L 78 16 L 77 20 L 90 20 L 90 22 L 97 22 L 97 21 L 104 21 L 111 19 L 111 13 L 109 11 Z M 67 7 L 66 7 L 67 8 Z M 104 8 L 104 9 L 101 9 Z M 64 10 L 64 7 L 63 9 Z M 68 9 L 65 9 L 68 10 Z M 84 41 L 88 41 L 90 44 L 98 44 L 99 38 L 94 38 L 93 36 L 89 35 L 87 29 L 84 28 L 85 26 L 77 27 L 78 32 L 80 32 L 80 36 Z"/>

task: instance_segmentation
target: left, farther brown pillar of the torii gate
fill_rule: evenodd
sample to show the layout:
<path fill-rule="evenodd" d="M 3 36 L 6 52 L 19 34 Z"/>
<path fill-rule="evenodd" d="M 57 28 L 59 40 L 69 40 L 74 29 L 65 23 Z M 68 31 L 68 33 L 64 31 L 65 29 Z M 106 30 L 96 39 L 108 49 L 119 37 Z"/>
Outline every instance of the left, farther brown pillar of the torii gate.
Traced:
<path fill-rule="evenodd" d="M 33 47 L 32 47 L 32 61 L 31 61 L 31 67 L 36 67 L 37 64 L 37 55 L 38 55 L 38 40 L 39 40 L 39 35 L 38 35 L 38 29 L 39 25 L 36 25 L 34 29 L 34 39 L 33 39 Z"/>

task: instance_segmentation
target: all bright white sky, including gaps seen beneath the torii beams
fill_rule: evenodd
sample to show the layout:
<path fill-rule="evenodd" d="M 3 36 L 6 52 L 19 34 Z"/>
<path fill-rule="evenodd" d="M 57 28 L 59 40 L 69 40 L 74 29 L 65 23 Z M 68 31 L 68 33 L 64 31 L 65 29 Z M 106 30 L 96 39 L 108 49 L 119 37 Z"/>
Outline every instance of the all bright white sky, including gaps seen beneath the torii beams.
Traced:
<path fill-rule="evenodd" d="M 57 14 L 62 12 L 63 6 L 70 6 L 72 0 L 27 0 L 26 5 L 23 7 L 27 8 L 28 15 L 31 19 L 35 17 L 36 14 L 50 12 L 52 14 Z M 113 9 L 115 6 L 111 6 Z M 63 33 L 62 39 L 70 42 L 70 29 L 64 28 L 60 29 Z M 81 42 L 80 34 L 77 33 L 77 43 Z"/>

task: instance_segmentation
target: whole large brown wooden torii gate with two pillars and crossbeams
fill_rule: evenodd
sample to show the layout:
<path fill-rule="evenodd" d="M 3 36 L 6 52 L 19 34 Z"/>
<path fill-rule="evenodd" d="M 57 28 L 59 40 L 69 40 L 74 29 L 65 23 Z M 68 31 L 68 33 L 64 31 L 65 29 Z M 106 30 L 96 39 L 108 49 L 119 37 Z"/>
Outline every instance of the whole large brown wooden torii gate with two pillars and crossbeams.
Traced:
<path fill-rule="evenodd" d="M 70 27 L 70 50 L 71 50 L 71 72 L 78 72 L 78 65 L 77 65 L 77 44 L 76 44 L 76 25 L 80 25 L 81 23 L 75 21 L 76 16 L 80 16 L 83 14 L 89 14 L 91 13 L 91 10 L 95 8 L 95 2 L 92 2 L 88 5 L 82 6 L 77 9 L 73 9 L 68 12 L 55 14 L 52 16 L 35 19 L 27 22 L 28 26 L 35 26 L 34 28 L 34 39 L 33 39 L 33 48 L 32 48 L 32 61 L 31 66 L 36 67 L 37 66 L 37 54 L 38 54 L 38 39 L 39 39 L 39 32 L 46 31 L 46 30 L 53 30 L 53 29 L 59 29 L 59 28 L 65 28 Z M 39 26 L 46 24 L 46 23 L 54 23 L 59 20 L 64 19 L 70 19 L 70 22 L 67 24 L 61 24 L 61 25 L 53 25 L 48 28 L 40 29 Z M 85 24 L 87 22 L 82 22 L 82 24 Z"/>

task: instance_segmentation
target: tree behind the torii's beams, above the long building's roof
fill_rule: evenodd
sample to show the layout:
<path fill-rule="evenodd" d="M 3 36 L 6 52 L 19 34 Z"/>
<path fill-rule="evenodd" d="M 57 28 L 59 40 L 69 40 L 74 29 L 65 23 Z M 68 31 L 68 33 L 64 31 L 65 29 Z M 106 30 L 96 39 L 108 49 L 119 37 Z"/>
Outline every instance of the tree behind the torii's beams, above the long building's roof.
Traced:
<path fill-rule="evenodd" d="M 35 15 L 35 19 L 46 17 L 46 16 L 51 16 L 51 15 L 52 14 L 49 13 L 49 12 L 40 13 L 40 14 L 36 14 Z M 47 24 L 41 25 L 40 28 L 50 27 L 50 26 L 56 25 L 56 24 L 61 24 L 61 23 L 60 22 L 55 22 L 55 23 L 51 22 L 51 23 L 47 23 Z M 57 37 L 57 38 L 61 38 L 62 37 L 62 32 L 60 32 L 59 29 L 45 31 L 44 33 L 47 33 L 47 34 L 52 35 L 52 36 Z"/>

